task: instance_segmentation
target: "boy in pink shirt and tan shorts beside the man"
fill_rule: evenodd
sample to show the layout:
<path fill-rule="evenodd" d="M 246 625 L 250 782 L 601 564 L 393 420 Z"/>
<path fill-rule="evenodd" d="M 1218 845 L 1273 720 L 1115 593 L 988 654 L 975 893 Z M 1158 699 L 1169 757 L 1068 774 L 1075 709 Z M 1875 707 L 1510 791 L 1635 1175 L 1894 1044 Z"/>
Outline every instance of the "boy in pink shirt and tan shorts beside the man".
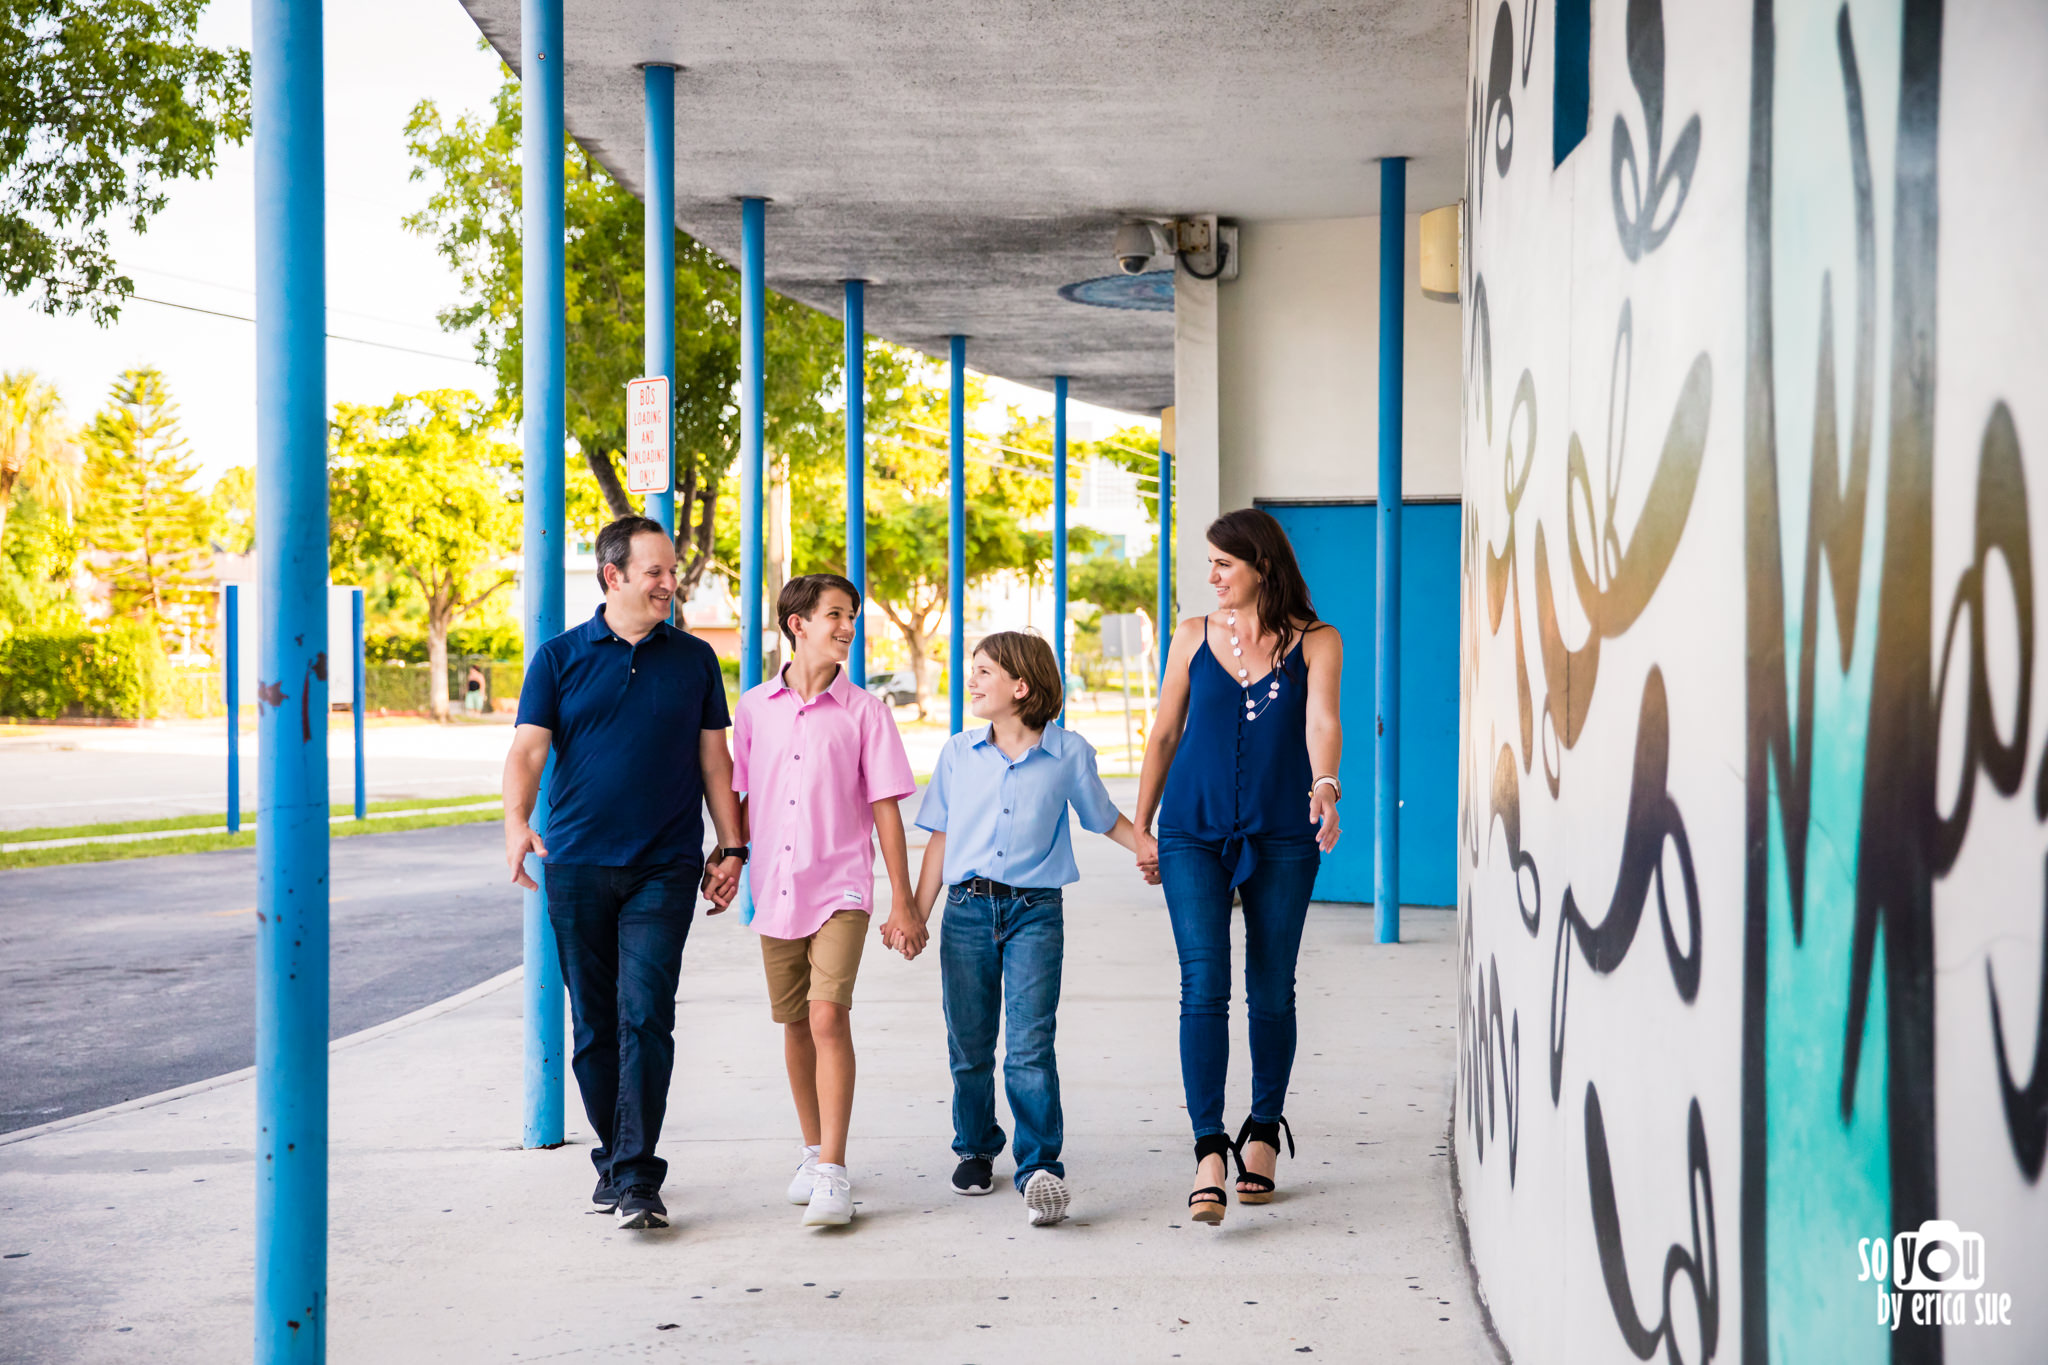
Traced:
<path fill-rule="evenodd" d="M 852 1222 L 848 1011 L 874 898 L 874 833 L 889 868 L 885 937 L 924 927 L 897 800 L 918 790 L 887 702 L 846 673 L 860 593 L 836 573 L 791 579 L 776 602 L 793 659 L 733 712 L 733 790 L 745 792 L 748 890 L 768 1003 L 803 1128 L 791 1203 L 809 1228 Z"/>

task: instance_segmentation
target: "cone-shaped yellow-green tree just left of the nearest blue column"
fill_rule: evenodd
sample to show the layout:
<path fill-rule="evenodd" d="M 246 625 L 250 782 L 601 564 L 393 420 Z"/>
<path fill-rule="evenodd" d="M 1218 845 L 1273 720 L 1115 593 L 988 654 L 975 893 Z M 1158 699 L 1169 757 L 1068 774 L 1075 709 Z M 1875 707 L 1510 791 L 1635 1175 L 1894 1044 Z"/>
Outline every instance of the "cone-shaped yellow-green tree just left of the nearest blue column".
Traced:
<path fill-rule="evenodd" d="M 186 632 L 211 596 L 207 503 L 178 405 L 156 368 L 125 370 L 106 407 L 86 428 L 84 540 L 98 551 L 121 616 Z"/>

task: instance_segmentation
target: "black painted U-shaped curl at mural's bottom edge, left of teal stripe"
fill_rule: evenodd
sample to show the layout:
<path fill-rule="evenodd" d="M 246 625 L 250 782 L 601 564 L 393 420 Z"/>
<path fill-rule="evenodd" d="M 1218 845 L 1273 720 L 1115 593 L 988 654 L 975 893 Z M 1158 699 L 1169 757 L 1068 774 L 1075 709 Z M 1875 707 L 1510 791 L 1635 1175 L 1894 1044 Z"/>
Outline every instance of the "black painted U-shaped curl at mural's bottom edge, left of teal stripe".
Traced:
<path fill-rule="evenodd" d="M 1638 1361 L 1665 1349 L 1671 1365 L 1712 1359 L 1720 1345 L 1720 1248 L 1714 1238 L 1714 1175 L 1706 1154 L 1706 1119 L 1700 1101 L 1686 1111 L 1686 1197 L 1692 1209 L 1692 1244 L 1673 1242 L 1665 1250 L 1663 1316 L 1655 1326 L 1636 1312 L 1628 1287 L 1628 1254 L 1622 1246 L 1622 1214 L 1614 1199 L 1614 1162 L 1608 1156 L 1608 1126 L 1599 1113 L 1599 1091 L 1585 1085 L 1585 1185 L 1593 1209 L 1593 1242 L 1599 1248 L 1599 1275 L 1608 1285 L 1608 1304 L 1622 1340 Z M 1671 1285 L 1683 1277 L 1692 1289 L 1694 1314 L 1700 1322 L 1696 1353 L 1681 1353 L 1673 1336 Z"/>

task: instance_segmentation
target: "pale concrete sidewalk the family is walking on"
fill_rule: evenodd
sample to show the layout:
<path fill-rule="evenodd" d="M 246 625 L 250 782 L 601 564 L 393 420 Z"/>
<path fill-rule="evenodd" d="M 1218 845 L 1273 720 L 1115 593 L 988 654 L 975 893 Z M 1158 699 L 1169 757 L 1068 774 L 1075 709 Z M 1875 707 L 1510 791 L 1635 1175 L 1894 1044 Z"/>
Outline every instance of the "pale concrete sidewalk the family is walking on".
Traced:
<path fill-rule="evenodd" d="M 590 1136 L 518 1142 L 516 974 L 336 1044 L 330 1359 L 1495 1361 L 1452 1209 L 1454 917 L 1315 907 L 1300 960 L 1300 1142 L 1282 1195 L 1184 1216 L 1178 968 L 1163 902 L 1079 837 L 1061 1074 L 1073 1218 L 999 1183 L 950 1193 L 936 948 L 870 943 L 854 1038 L 858 1218 L 805 1230 L 754 935 L 698 919 L 662 1150 L 676 1228 L 586 1214 Z M 1229 1119 L 1249 1072 L 1243 1007 Z M 1008 1117 L 1008 1115 L 1006 1115 Z M 244 1074 L 0 1140 L 0 1359 L 233 1361 L 250 1351 L 254 1083 Z M 1008 1173 L 1008 1160 L 997 1173 Z"/>

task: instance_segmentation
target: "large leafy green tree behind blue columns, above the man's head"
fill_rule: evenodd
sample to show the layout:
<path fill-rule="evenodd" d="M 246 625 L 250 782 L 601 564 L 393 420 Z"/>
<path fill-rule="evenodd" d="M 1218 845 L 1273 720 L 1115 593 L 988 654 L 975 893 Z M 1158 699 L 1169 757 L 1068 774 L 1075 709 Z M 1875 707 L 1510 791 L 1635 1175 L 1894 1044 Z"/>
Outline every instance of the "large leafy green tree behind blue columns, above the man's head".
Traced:
<path fill-rule="evenodd" d="M 520 403 L 520 96 L 506 80 L 489 117 L 444 121 L 432 100 L 406 125 L 426 209 L 406 225 L 432 237 L 461 282 L 440 315 L 451 332 L 477 327 L 477 360 L 498 377 L 500 401 Z M 627 516 L 621 481 L 625 385 L 643 368 L 643 209 L 575 139 L 565 141 L 567 415 L 582 452 L 571 465 L 569 514 L 594 534 Z M 764 428 L 770 463 L 809 469 L 844 432 L 829 399 L 842 383 L 840 323 L 768 295 Z M 676 233 L 676 551 L 682 589 L 719 567 L 719 495 L 739 450 L 739 276 L 688 233 Z M 731 565 L 729 551 L 723 563 Z"/>

